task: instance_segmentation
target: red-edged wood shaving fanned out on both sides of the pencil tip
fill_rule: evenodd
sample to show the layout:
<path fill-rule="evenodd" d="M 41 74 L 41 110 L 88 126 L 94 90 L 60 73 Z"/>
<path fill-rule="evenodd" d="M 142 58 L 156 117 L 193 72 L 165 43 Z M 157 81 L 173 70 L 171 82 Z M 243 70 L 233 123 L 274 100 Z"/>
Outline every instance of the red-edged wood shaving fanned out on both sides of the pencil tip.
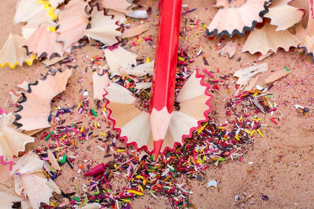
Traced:
<path fill-rule="evenodd" d="M 180 110 L 172 112 L 161 147 L 162 153 L 166 150 L 173 151 L 177 145 L 182 145 L 185 138 L 191 137 L 193 131 L 201 126 L 201 122 L 208 120 L 207 113 L 212 109 L 209 104 L 212 96 L 208 94 L 209 86 L 204 84 L 203 79 L 204 76 L 195 71 L 180 90 L 176 99 Z M 114 122 L 113 129 L 119 131 L 119 138 L 124 139 L 126 145 L 152 153 L 154 146 L 149 113 L 134 106 L 136 98 L 124 87 L 111 83 L 105 90 L 108 118 Z"/>

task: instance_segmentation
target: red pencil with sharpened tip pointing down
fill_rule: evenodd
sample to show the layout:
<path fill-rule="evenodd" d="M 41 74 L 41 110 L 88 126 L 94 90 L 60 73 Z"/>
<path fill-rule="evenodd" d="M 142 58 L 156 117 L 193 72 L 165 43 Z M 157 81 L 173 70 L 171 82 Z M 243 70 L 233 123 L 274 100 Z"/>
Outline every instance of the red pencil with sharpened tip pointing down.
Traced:
<path fill-rule="evenodd" d="M 149 118 L 155 159 L 174 108 L 182 0 L 162 0 L 152 76 Z"/>

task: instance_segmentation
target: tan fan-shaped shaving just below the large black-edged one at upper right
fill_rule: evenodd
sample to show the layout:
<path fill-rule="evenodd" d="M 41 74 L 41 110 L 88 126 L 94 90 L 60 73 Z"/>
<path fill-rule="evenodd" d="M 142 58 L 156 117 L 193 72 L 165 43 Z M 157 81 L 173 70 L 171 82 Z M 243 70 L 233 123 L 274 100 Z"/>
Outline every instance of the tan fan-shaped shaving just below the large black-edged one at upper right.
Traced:
<path fill-rule="evenodd" d="M 275 29 L 276 26 L 265 23 L 261 29 L 252 31 L 243 45 L 242 52 L 248 51 L 251 54 L 260 52 L 266 55 L 269 51 L 277 52 L 278 48 L 288 52 L 290 47 L 297 47 L 300 43 L 290 32 Z"/>

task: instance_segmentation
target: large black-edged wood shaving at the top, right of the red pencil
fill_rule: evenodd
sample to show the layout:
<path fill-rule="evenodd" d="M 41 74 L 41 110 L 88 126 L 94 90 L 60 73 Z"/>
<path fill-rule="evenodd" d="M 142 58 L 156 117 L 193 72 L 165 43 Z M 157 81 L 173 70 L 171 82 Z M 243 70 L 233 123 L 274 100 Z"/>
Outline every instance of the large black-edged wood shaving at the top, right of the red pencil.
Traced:
<path fill-rule="evenodd" d="M 243 3 L 243 1 L 241 2 Z M 230 7 L 219 9 L 207 27 L 206 35 L 216 34 L 218 37 L 224 35 L 232 37 L 235 34 L 243 36 L 246 31 L 253 31 L 255 24 L 263 21 L 263 16 L 268 12 L 268 5 L 271 2 L 247 0 L 241 6 L 232 6 L 233 3 L 231 3 Z"/>

